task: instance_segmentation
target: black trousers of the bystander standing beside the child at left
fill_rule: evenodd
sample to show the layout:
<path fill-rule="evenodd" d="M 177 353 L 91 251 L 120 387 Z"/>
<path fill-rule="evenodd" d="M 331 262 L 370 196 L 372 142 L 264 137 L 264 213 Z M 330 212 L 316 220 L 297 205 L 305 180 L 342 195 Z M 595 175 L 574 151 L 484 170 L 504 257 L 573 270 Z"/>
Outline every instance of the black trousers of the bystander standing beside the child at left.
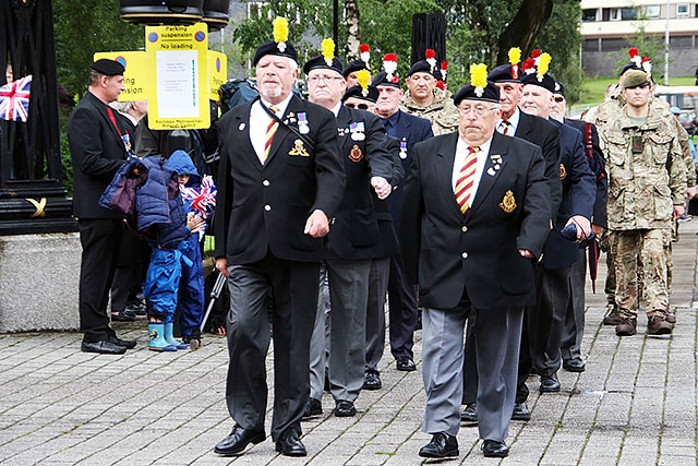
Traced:
<path fill-rule="evenodd" d="M 79 294 L 80 331 L 85 334 L 85 342 L 100 342 L 113 335 L 109 327 L 107 303 L 121 243 L 121 220 L 81 218 L 77 227 L 83 248 Z"/>

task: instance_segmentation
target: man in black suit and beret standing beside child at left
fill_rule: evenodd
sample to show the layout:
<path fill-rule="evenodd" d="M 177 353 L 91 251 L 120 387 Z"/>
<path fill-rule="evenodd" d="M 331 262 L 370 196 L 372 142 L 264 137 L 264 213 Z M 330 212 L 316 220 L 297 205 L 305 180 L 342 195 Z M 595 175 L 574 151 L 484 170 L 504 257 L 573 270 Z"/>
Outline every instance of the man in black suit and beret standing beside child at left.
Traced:
<path fill-rule="evenodd" d="M 124 89 L 121 63 L 97 60 L 89 72 L 89 88 L 68 120 L 73 165 L 73 215 L 83 248 L 80 268 L 80 330 L 82 350 L 121 355 L 135 342 L 117 337 L 109 326 L 107 302 L 123 229 L 116 212 L 99 206 L 131 146 L 128 123 L 108 104 Z"/>

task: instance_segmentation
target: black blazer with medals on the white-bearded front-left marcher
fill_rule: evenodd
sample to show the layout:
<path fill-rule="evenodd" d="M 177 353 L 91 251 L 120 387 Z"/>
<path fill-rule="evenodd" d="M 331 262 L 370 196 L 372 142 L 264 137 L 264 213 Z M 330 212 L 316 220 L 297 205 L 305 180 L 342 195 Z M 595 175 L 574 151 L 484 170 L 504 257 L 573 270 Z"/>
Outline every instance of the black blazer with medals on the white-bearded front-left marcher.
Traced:
<path fill-rule="evenodd" d="M 214 254 L 230 265 L 260 261 L 267 251 L 281 260 L 320 263 L 322 238 L 303 230 L 313 211 L 332 218 L 341 201 L 345 170 L 335 116 L 293 96 L 281 119 L 298 129 L 298 113 L 305 112 L 315 148 L 280 124 L 262 165 L 250 141 L 252 104 L 229 110 L 218 121 Z"/>

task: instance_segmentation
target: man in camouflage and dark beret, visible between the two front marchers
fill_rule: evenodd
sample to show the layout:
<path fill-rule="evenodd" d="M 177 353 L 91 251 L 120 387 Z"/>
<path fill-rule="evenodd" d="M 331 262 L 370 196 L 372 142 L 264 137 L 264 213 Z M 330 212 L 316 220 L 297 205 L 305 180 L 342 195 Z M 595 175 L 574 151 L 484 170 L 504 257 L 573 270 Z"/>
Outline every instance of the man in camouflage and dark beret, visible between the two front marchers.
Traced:
<path fill-rule="evenodd" d="M 408 92 L 402 96 L 400 110 L 426 118 L 432 122 L 434 135 L 452 133 L 458 129 L 458 109 L 448 91 L 436 86 L 442 74 L 434 63 L 420 60 L 407 72 Z"/>

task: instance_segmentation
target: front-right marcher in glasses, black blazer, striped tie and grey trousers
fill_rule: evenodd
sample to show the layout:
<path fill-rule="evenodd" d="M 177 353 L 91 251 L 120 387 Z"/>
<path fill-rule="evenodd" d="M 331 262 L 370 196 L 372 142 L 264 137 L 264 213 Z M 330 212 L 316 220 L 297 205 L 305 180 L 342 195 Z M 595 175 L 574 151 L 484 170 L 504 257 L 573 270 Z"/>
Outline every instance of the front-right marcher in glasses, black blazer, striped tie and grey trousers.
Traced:
<path fill-rule="evenodd" d="M 422 311 L 423 430 L 419 454 L 459 454 L 466 320 L 476 322 L 479 429 L 488 457 L 504 457 L 514 409 L 524 306 L 547 236 L 550 194 L 540 147 L 495 132 L 500 92 L 476 68 L 454 99 L 458 133 L 419 143 L 405 186 L 400 240 Z M 477 71 L 480 70 L 480 71 Z"/>

